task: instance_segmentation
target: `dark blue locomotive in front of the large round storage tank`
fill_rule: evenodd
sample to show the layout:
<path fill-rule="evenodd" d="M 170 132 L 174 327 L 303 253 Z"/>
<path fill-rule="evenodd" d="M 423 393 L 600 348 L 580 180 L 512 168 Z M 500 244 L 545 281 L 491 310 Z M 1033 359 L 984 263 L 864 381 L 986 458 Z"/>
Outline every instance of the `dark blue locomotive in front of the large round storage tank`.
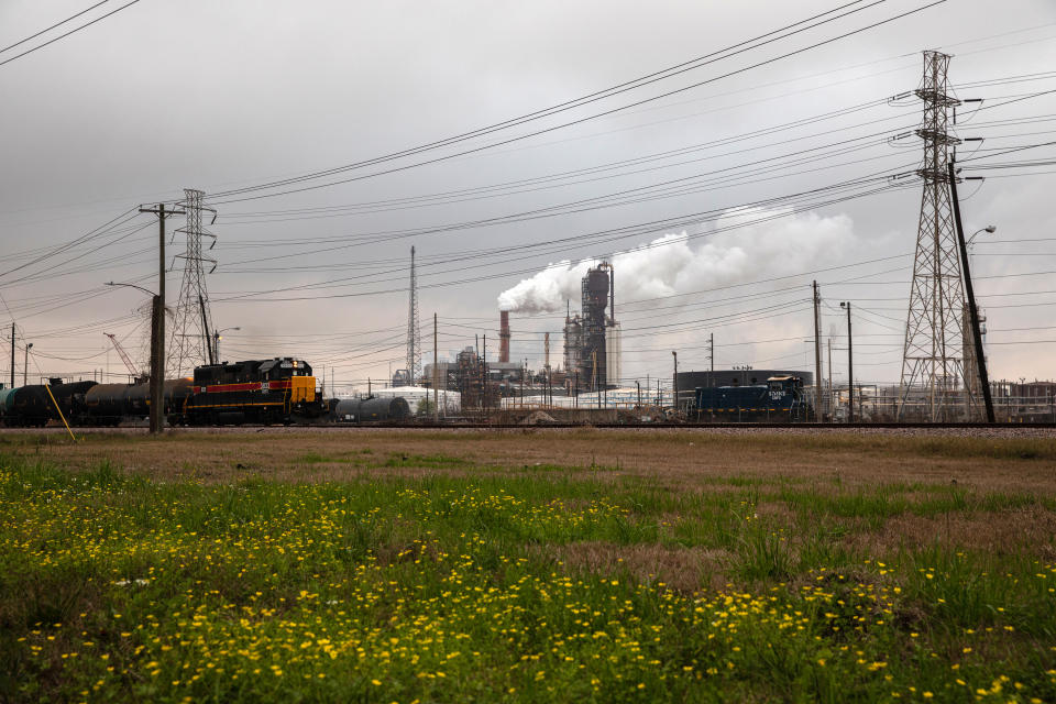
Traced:
<path fill-rule="evenodd" d="M 698 386 L 696 420 L 702 422 L 806 422 L 814 409 L 799 376 L 771 376 L 766 384 Z"/>

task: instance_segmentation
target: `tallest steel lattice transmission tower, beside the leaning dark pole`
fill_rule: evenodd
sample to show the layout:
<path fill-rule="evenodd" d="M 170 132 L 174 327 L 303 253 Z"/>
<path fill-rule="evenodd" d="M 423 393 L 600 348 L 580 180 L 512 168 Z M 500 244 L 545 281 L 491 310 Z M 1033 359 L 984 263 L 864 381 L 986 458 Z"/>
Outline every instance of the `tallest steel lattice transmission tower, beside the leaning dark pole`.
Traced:
<path fill-rule="evenodd" d="M 949 55 L 924 52 L 924 79 L 915 95 L 924 102 L 916 134 L 924 182 L 902 353 L 898 416 L 921 408 L 925 419 L 957 420 L 978 411 L 968 393 L 964 359 L 965 287 L 949 189 L 948 163 L 960 142 L 949 132 L 949 111 L 959 105 L 949 94 Z M 919 411 L 920 413 L 920 411 Z"/>

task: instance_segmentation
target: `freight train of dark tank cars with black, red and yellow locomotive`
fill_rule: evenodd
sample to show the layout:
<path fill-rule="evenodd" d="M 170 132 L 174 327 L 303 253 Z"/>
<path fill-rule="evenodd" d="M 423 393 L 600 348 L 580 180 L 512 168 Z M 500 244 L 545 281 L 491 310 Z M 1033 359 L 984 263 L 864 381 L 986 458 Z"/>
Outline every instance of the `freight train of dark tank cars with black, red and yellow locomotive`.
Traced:
<path fill-rule="evenodd" d="M 293 358 L 199 366 L 191 378 L 166 381 L 163 398 L 170 426 L 288 425 L 330 411 L 311 366 Z M 62 419 L 72 426 L 117 426 L 150 413 L 148 383 L 64 384 L 54 378 L 46 385 L 0 389 L 0 421 L 9 428 L 43 427 Z"/>

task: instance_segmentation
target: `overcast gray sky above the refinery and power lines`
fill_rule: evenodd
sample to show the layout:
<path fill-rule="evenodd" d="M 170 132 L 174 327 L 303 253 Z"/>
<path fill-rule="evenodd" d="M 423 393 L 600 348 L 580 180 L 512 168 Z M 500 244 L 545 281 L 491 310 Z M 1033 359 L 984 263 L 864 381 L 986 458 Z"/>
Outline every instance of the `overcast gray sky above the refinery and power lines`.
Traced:
<path fill-rule="evenodd" d="M 0 48 L 90 4 L 7 0 Z M 2 271 L 141 202 L 178 198 L 185 187 L 220 194 L 429 143 L 837 4 L 141 0 L 0 65 Z M 788 196 L 915 167 L 919 142 L 887 138 L 912 130 L 920 108 L 883 99 L 917 86 L 925 48 L 954 55 L 950 80 L 959 97 L 985 99 L 983 110 L 961 109 L 960 135 L 986 138 L 964 146 L 963 160 L 1050 142 L 1056 117 L 1056 94 L 1027 97 L 1056 89 L 1050 0 L 949 0 L 806 50 L 925 4 L 886 0 L 588 107 L 342 175 L 369 178 L 289 195 L 215 197 L 212 315 L 218 327 L 241 327 L 224 336 L 222 356 L 295 354 L 317 367 L 334 366 L 339 384 L 364 384 L 404 366 L 410 245 L 421 263 L 428 362 L 433 312 L 441 356 L 450 355 L 472 344 L 474 333 L 497 337 L 499 295 L 549 264 L 574 266 L 684 231 L 684 239 L 616 256 L 625 257 L 616 272 L 625 378 L 669 375 L 672 349 L 681 350 L 681 369 L 703 369 L 708 332 L 717 366 L 812 369 L 813 346 L 804 341 L 813 333 L 809 286 L 816 278 L 826 336 L 844 334 L 839 301 L 854 301 L 856 376 L 897 382 L 920 186 L 828 205 L 816 205 L 821 197 L 793 204 Z M 0 62 L 51 36 L 0 52 Z M 748 68 L 799 50 L 806 51 Z M 1016 98 L 1024 99 L 1000 105 Z M 848 108 L 856 109 L 838 112 Z M 790 125 L 795 121 L 802 123 Z M 480 190 L 674 150 L 682 152 Z M 1045 160 L 1054 152 L 1038 147 L 989 161 Z M 440 156 L 444 161 L 378 174 Z M 1056 272 L 1054 169 L 992 170 L 982 185 L 963 185 L 966 229 L 998 227 L 978 238 L 974 260 L 993 378 L 1053 376 L 1056 293 L 1043 292 L 1056 290 L 1056 276 L 1046 273 Z M 683 180 L 659 186 L 674 179 Z M 300 186 L 330 180 L 337 179 Z M 431 197 L 465 189 L 474 190 Z M 246 196 L 270 197 L 237 200 Z M 770 199 L 761 209 L 733 210 Z M 529 212 L 515 222 L 479 222 Z M 683 217 L 678 227 L 588 237 Z M 34 375 L 122 373 L 103 331 L 119 333 L 142 355 L 142 295 L 102 286 L 112 279 L 155 285 L 155 229 L 147 216 L 130 224 L 143 229 L 124 228 L 0 276 L 0 324 L 10 326 L 13 316 L 20 337 L 34 343 Z M 560 289 L 575 276 L 562 279 L 568 268 L 551 268 L 544 278 Z M 169 302 L 179 279 L 178 268 L 169 274 Z M 513 356 L 539 364 L 549 331 L 551 354 L 560 359 L 562 318 L 515 311 Z M 835 377 L 846 378 L 846 339 L 835 337 L 834 349 Z M 0 366 L 7 369 L 6 355 Z"/>

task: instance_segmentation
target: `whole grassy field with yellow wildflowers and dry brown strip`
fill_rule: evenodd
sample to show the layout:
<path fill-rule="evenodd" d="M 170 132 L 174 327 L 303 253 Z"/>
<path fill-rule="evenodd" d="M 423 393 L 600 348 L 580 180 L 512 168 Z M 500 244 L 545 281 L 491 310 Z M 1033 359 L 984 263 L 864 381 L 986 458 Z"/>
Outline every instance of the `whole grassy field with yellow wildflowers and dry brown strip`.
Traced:
<path fill-rule="evenodd" d="M 1056 439 L 0 436 L 0 701 L 1056 701 Z"/>

